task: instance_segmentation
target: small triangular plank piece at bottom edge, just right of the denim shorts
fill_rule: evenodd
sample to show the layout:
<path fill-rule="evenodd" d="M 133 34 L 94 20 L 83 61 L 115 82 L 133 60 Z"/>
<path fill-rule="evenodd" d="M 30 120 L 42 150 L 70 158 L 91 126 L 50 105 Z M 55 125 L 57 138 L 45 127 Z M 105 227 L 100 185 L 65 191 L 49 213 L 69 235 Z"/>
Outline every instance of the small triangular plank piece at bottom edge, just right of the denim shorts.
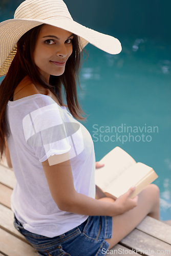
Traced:
<path fill-rule="evenodd" d="M 134 252 L 132 249 L 126 248 L 123 245 L 116 244 L 113 248 L 109 251 L 106 251 L 106 255 L 139 255 L 138 253 Z"/>

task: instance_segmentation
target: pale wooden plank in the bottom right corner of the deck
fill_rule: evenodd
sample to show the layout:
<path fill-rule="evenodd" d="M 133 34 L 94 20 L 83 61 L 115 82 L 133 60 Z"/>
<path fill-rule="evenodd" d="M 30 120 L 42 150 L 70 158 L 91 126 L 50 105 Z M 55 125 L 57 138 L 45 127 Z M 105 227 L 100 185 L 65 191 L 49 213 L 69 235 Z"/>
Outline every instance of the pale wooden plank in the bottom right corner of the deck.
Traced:
<path fill-rule="evenodd" d="M 129 235 L 123 238 L 121 244 L 125 247 L 136 249 L 136 252 L 141 250 L 141 253 L 147 256 L 168 256 L 168 254 L 171 254 L 171 245 L 149 236 L 138 229 L 134 229 Z"/>

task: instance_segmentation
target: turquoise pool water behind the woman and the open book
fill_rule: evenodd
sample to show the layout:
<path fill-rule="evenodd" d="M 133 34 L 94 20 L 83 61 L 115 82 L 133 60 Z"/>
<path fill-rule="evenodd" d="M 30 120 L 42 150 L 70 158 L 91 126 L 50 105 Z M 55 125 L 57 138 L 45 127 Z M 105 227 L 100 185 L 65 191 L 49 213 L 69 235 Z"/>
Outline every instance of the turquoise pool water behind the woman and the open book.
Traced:
<path fill-rule="evenodd" d="M 122 52 L 86 47 L 79 91 L 97 161 L 120 146 L 159 178 L 161 219 L 171 218 L 171 47 L 161 39 L 118 36 Z"/>

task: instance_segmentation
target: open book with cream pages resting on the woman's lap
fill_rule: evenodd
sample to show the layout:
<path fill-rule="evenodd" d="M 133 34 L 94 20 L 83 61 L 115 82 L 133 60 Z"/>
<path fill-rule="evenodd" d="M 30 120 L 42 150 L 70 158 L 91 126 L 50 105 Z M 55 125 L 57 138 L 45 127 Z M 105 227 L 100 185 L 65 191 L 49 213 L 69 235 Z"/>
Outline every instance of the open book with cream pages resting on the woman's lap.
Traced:
<path fill-rule="evenodd" d="M 118 198 L 130 187 L 136 186 L 131 198 L 158 178 L 152 167 L 136 161 L 120 147 L 115 147 L 100 161 L 104 166 L 96 169 L 95 183 L 104 192 Z"/>

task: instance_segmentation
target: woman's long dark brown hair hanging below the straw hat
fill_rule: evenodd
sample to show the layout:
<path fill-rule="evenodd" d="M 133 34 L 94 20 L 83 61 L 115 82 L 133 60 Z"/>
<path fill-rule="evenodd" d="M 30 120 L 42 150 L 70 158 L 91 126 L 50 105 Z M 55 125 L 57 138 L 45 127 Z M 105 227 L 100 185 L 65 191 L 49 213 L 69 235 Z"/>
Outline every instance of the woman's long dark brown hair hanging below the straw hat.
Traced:
<path fill-rule="evenodd" d="M 0 86 L 0 154 L 1 159 L 5 149 L 5 136 L 8 136 L 8 122 L 6 116 L 6 106 L 9 100 L 13 98 L 14 90 L 23 80 L 25 76 L 29 76 L 34 84 L 41 84 L 42 87 L 48 88 L 54 93 L 61 105 L 62 86 L 64 88 L 67 106 L 71 114 L 78 120 L 86 119 L 82 115 L 85 114 L 78 103 L 76 81 L 78 81 L 78 73 L 80 68 L 81 53 L 79 48 L 79 38 L 74 35 L 72 40 L 73 52 L 66 62 L 65 72 L 61 76 L 50 76 L 47 83 L 41 76 L 33 59 L 36 39 L 40 29 L 44 24 L 32 28 L 26 32 L 17 42 L 17 52 L 11 63 L 7 75 Z M 24 48 L 26 46 L 26 49 Z M 79 83 L 79 81 L 78 81 Z"/>

